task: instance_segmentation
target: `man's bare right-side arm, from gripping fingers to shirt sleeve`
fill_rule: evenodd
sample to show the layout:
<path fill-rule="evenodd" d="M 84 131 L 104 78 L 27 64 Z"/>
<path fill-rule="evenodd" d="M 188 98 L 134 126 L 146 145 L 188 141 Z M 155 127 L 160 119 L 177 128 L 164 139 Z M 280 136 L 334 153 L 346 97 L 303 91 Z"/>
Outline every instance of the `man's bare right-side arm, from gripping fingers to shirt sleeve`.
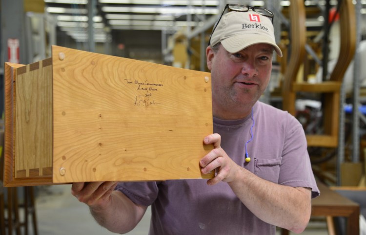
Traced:
<path fill-rule="evenodd" d="M 220 147 L 221 136 L 212 134 L 203 139 L 214 149 L 204 156 L 200 165 L 202 173 L 216 169 L 217 174 L 207 184 L 228 182 L 235 195 L 258 218 L 291 230 L 304 231 L 311 212 L 311 190 L 275 184 L 259 178 L 232 161 Z"/>

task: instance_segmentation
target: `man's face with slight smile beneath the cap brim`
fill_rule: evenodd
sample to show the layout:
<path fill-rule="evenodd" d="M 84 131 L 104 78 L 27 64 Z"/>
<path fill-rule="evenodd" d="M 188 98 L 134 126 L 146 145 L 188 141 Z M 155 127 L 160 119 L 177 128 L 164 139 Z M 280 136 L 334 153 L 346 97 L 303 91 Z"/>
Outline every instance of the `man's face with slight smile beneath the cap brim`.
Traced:
<path fill-rule="evenodd" d="M 226 112 L 233 112 L 233 118 L 235 112 L 249 114 L 269 82 L 273 47 L 262 43 L 229 53 L 221 45 L 216 53 L 208 47 L 206 55 L 207 67 L 211 70 L 215 111 L 227 109 Z"/>

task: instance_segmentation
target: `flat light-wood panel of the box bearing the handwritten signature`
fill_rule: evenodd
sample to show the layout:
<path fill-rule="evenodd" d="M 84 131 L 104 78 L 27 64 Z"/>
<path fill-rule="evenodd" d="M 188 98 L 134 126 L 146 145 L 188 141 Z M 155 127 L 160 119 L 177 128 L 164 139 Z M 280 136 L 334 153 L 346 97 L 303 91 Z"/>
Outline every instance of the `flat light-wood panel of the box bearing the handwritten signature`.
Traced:
<path fill-rule="evenodd" d="M 198 179 L 207 72 L 53 46 L 54 182 Z"/>

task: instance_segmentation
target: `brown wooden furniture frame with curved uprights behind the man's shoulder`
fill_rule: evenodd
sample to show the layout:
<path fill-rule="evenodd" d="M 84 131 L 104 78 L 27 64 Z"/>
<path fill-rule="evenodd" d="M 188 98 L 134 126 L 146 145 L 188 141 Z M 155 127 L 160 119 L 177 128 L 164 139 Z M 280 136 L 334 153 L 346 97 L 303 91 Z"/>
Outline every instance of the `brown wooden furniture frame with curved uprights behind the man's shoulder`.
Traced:
<path fill-rule="evenodd" d="M 296 82 L 305 55 L 305 6 L 303 0 L 290 0 L 291 54 L 285 71 L 283 108 L 296 115 L 297 92 L 322 93 L 324 95 L 324 134 L 306 135 L 308 146 L 336 147 L 339 132 L 340 90 L 343 76 L 355 53 L 356 19 L 352 0 L 342 0 L 340 7 L 340 56 L 329 81 L 310 84 Z"/>

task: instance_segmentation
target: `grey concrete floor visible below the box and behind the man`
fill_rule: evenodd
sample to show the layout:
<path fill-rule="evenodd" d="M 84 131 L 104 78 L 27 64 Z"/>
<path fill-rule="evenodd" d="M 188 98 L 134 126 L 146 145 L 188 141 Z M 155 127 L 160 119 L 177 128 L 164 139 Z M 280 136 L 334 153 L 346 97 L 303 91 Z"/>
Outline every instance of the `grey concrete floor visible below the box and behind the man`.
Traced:
<path fill-rule="evenodd" d="M 112 235 L 113 233 L 95 222 L 88 207 L 74 198 L 70 190 L 71 185 L 37 187 L 36 213 L 39 235 Z M 151 212 L 148 209 L 139 225 L 127 235 L 147 235 L 150 216 Z M 30 228 L 32 230 L 32 227 Z M 326 235 L 326 225 L 322 221 L 310 222 L 303 234 Z"/>

